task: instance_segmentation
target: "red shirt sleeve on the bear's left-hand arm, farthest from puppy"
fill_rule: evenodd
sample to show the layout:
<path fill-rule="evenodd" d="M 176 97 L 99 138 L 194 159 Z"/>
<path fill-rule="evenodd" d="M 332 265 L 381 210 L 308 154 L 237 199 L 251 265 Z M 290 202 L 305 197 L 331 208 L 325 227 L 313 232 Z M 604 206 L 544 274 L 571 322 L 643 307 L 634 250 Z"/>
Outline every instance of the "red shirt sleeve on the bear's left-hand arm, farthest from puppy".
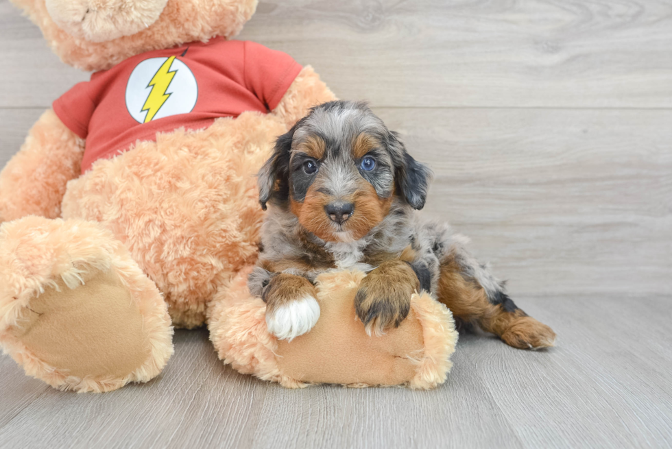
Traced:
<path fill-rule="evenodd" d="M 81 138 L 86 138 L 88 123 L 95 111 L 89 90 L 91 82 L 77 83 L 51 104 L 60 121 Z"/>

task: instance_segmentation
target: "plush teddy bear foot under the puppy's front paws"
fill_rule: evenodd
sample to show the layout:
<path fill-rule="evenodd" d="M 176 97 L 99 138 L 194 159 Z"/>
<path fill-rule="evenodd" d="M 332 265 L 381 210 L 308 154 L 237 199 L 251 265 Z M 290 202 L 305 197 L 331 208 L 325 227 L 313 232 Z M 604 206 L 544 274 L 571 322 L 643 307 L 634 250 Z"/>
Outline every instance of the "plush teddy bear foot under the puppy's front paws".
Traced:
<path fill-rule="evenodd" d="M 217 354 L 237 371 L 289 388 L 327 382 L 347 387 L 431 389 L 446 380 L 457 332 L 451 312 L 428 293 L 409 298 L 410 318 L 397 332 L 367 337 L 359 324 L 361 334 L 352 337 L 350 332 L 358 328 L 353 302 L 365 275 L 348 270 L 321 274 L 315 281 L 317 301 L 327 315 L 320 317 L 315 330 L 287 343 L 269 332 L 267 305 L 247 287 L 251 272 L 252 267 L 241 270 L 217 293 L 208 309 L 208 329 Z M 335 302 L 344 307 L 334 308 Z M 413 343 L 416 340 L 419 344 Z M 305 374 L 306 367 L 311 374 Z M 332 367 L 337 367 L 337 372 Z M 394 367 L 397 372 L 390 372 Z"/>

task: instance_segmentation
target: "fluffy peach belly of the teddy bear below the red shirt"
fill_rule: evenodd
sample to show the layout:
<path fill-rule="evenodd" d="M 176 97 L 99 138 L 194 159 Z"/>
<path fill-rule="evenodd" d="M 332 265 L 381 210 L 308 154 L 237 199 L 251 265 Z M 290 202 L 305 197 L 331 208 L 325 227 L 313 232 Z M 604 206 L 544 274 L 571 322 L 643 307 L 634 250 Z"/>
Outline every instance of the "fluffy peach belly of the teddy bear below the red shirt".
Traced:
<path fill-rule="evenodd" d="M 138 143 L 71 181 L 63 217 L 110 229 L 164 293 L 173 323 L 201 326 L 222 282 L 256 260 L 263 215 L 254 173 L 284 130 L 244 112 Z"/>

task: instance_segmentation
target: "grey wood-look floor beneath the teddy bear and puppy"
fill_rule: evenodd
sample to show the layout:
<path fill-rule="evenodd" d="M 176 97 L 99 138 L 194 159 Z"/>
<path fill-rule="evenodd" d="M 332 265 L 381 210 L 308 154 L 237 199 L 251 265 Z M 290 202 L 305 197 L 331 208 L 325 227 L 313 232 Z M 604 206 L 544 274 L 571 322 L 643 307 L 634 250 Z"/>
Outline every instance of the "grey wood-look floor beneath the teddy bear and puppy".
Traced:
<path fill-rule="evenodd" d="M 221 367 L 205 330 L 181 330 L 160 378 L 101 395 L 47 389 L 24 398 L 0 426 L 0 445 L 667 447 L 672 350 L 662 338 L 671 299 L 523 298 L 555 328 L 558 346 L 520 351 L 463 334 L 448 382 L 434 391 L 283 389 Z M 22 380 L 18 367 L 2 372 Z M 5 385 L 12 402 L 3 407 L 19 396 Z"/>

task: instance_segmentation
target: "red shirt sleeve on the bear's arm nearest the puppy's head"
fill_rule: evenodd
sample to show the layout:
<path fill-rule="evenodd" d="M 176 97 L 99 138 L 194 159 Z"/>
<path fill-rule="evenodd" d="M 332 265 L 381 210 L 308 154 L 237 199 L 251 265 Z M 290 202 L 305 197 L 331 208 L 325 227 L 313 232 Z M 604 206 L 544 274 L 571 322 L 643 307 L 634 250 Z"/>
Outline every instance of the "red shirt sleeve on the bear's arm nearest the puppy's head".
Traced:
<path fill-rule="evenodd" d="M 269 110 L 275 109 L 301 71 L 301 64 L 287 53 L 250 41 L 245 41 L 244 58 L 245 87 Z"/>

